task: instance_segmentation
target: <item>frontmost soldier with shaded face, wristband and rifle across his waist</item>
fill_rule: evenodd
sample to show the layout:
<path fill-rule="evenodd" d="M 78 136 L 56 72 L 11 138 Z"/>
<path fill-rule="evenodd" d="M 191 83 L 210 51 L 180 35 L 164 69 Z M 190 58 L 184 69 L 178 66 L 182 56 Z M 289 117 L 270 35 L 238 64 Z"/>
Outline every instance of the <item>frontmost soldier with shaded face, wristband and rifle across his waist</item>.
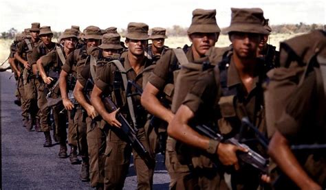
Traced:
<path fill-rule="evenodd" d="M 267 34 L 262 24 L 263 11 L 259 8 L 231 8 L 231 10 L 231 24 L 226 28 L 226 32 L 232 43 L 232 54 L 228 55 L 228 61 L 221 61 L 214 69 L 202 73 L 200 80 L 193 85 L 182 106 L 175 113 L 168 126 L 168 134 L 183 143 L 199 148 L 193 155 L 190 154 L 192 160 L 198 154 L 210 154 L 211 156 L 208 156 L 210 161 L 213 161 L 214 156 L 218 156 L 222 164 L 232 165 L 239 170 L 232 172 L 232 189 L 257 189 L 259 172 L 253 167 L 239 167 L 236 153 L 246 152 L 245 148 L 210 139 L 192 128 L 205 124 L 211 126 L 215 132 L 234 136 L 239 133 L 242 117 L 248 117 L 252 123 L 259 126 L 259 130 L 265 131 L 261 98 L 263 93 L 261 82 L 265 79 L 265 68 L 257 59 L 261 34 Z M 217 120 L 218 128 L 215 123 Z M 247 130 L 243 131 L 245 133 L 242 135 L 246 139 L 252 138 L 253 134 Z M 191 152 L 191 149 L 184 150 L 184 156 L 189 155 L 187 151 Z M 208 178 L 210 181 L 210 172 L 206 171 L 205 167 L 201 168 L 200 165 L 198 168 L 195 165 L 193 167 L 194 170 L 191 172 L 198 175 L 199 181 L 201 178 Z M 217 176 L 219 176 L 217 171 L 222 171 L 219 165 L 211 169 L 215 170 Z M 194 173 L 198 170 L 203 172 Z M 215 182 L 215 185 L 219 184 Z"/>

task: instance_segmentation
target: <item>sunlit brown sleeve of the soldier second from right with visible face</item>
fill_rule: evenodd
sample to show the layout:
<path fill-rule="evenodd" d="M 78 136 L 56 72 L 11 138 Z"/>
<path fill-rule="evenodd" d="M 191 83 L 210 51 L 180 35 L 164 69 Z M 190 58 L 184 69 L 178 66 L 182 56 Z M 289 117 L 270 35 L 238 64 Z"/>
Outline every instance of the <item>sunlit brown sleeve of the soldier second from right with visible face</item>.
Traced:
<path fill-rule="evenodd" d="M 175 56 L 172 50 L 166 51 L 160 60 L 157 61 L 155 69 L 149 77 L 149 82 L 160 91 L 164 89 L 166 81 L 169 79 L 170 65 L 173 57 Z"/>

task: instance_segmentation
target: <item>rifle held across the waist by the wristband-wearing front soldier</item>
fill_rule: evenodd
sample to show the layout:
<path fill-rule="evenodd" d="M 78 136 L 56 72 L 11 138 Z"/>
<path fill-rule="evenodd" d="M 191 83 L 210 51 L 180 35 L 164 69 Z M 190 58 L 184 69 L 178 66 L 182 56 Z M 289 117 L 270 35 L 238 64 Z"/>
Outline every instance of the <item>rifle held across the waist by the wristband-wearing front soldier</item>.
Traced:
<path fill-rule="evenodd" d="M 230 139 L 224 139 L 221 134 L 218 134 L 217 132 L 205 125 L 195 126 L 195 130 L 210 139 L 214 139 L 215 141 L 230 143 L 232 145 L 246 148 L 248 152 L 238 152 L 238 158 L 240 158 L 243 163 L 247 163 L 248 165 L 251 165 L 256 169 L 259 169 L 259 171 L 263 172 L 264 174 L 268 173 L 268 159 L 263 158 L 263 156 L 261 156 L 257 152 L 254 152 L 254 150 L 248 147 L 248 145 L 239 143 L 239 140 L 235 139 L 235 137 L 232 137 Z"/>

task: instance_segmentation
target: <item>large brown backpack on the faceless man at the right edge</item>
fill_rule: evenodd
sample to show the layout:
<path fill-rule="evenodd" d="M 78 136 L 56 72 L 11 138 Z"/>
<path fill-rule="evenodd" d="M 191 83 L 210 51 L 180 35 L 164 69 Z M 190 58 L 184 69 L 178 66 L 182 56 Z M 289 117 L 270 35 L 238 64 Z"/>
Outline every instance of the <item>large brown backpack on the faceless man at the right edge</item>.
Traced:
<path fill-rule="evenodd" d="M 326 64 L 325 48 L 325 32 L 318 30 L 281 43 L 281 67 L 268 72 L 269 80 L 265 84 L 264 99 L 269 137 L 274 134 L 275 121 L 281 118 L 292 93 L 300 88 L 309 72 L 316 72 L 318 92 L 320 95 L 326 94 L 323 92 L 326 88 L 326 73 L 325 69 L 322 69 Z M 321 51 L 324 54 L 320 54 Z"/>

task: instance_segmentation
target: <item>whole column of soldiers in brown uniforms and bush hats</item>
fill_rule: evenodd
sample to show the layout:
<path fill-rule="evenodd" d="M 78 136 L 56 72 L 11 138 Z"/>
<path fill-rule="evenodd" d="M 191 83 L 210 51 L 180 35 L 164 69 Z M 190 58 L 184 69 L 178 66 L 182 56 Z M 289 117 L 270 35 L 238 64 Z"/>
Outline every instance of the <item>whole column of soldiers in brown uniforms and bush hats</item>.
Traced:
<path fill-rule="evenodd" d="M 116 27 L 72 26 L 58 44 L 32 23 L 10 57 L 23 126 L 44 132 L 44 147 L 52 128 L 59 158 L 68 137 L 96 189 L 123 188 L 131 153 L 138 189 L 153 189 L 159 152 L 171 189 L 325 188 L 325 32 L 280 54 L 263 10 L 231 10 L 224 48 L 215 10 L 193 11 L 192 44 L 177 49 L 145 23 L 129 23 L 124 43 Z"/>

